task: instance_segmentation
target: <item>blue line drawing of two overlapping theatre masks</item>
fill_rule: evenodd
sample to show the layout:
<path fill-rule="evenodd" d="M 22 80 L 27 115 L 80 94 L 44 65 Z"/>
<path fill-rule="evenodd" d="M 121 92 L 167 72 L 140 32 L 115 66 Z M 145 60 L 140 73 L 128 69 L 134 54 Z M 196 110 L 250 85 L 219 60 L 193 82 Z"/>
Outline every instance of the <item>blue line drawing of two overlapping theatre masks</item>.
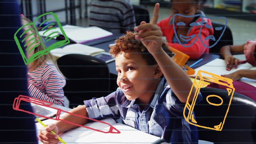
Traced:
<path fill-rule="evenodd" d="M 184 18 L 192 18 L 192 17 L 198 17 L 201 19 L 200 22 L 192 22 L 189 24 L 189 26 L 195 26 L 195 27 L 200 27 L 200 30 L 198 32 L 198 34 L 193 34 L 191 36 L 183 36 L 182 34 L 177 34 L 176 32 L 176 26 L 186 26 L 186 24 L 184 22 L 178 22 L 176 23 L 176 26 L 175 26 L 175 17 L 176 16 L 182 16 Z M 213 35 L 209 35 L 207 36 L 206 38 L 202 39 L 201 37 L 201 30 L 202 28 L 209 28 L 211 29 L 212 26 L 208 25 L 207 23 L 204 23 L 204 19 L 205 18 L 208 18 L 208 19 L 224 19 L 225 20 L 225 25 L 224 27 L 216 27 L 214 28 L 214 31 L 222 31 L 222 33 L 220 34 L 220 37 L 218 38 L 215 38 Z M 220 38 L 222 37 L 222 35 L 224 34 L 225 30 L 226 30 L 226 27 L 227 27 L 227 19 L 225 17 L 214 17 L 214 18 L 210 18 L 210 17 L 205 17 L 203 16 L 202 14 L 196 14 L 196 15 L 192 15 L 192 16 L 185 16 L 185 15 L 182 15 L 182 14 L 174 14 L 173 18 L 172 18 L 172 26 L 173 26 L 173 29 L 174 29 L 174 34 L 176 36 L 176 39 L 178 40 L 179 44 L 181 44 L 183 47 L 190 47 L 192 46 L 197 40 L 198 38 L 200 38 L 200 41 L 202 42 L 202 44 L 206 47 L 206 48 L 212 48 L 213 46 L 215 46 L 219 41 L 220 41 Z M 192 42 L 190 42 L 190 44 L 182 44 L 182 42 L 180 42 L 180 39 L 183 40 L 184 42 L 190 42 L 191 40 L 193 40 Z M 214 44 L 210 45 L 210 46 L 207 46 L 206 45 L 206 41 L 207 40 L 212 40 L 214 41 Z"/>

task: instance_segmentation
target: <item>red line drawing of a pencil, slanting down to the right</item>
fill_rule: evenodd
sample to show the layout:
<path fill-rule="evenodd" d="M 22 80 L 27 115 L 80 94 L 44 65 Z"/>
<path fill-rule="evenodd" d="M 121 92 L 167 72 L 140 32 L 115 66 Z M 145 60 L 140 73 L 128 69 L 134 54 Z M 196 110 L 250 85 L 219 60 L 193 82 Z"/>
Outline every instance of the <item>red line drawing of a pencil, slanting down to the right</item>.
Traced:
<path fill-rule="evenodd" d="M 47 117 L 47 116 L 42 116 L 42 115 L 40 115 L 40 114 L 36 114 L 36 113 L 34 113 L 34 112 L 30 112 L 30 111 L 27 111 L 27 110 L 22 110 L 22 109 L 20 109 L 20 103 L 21 103 L 21 102 L 22 102 L 22 104 L 23 104 L 24 102 L 28 102 L 28 103 L 33 103 L 33 104 L 40 105 L 40 106 L 46 106 L 46 107 L 48 107 L 48 108 L 53 108 L 53 109 L 57 110 L 57 112 L 56 112 L 56 118 L 50 118 L 50 117 Z M 112 125 L 110 125 L 110 124 L 108 124 L 108 123 L 106 123 L 106 122 L 102 122 L 102 121 L 99 121 L 99 120 L 94 120 L 94 119 L 92 119 L 92 118 L 87 118 L 87 117 L 85 117 L 85 116 L 81 116 L 81 115 L 78 115 L 78 114 L 72 114 L 72 113 L 67 112 L 67 111 L 64 111 L 64 110 L 62 110 L 62 109 L 60 109 L 60 108 L 51 107 L 51 105 L 52 105 L 52 103 L 46 102 L 46 101 L 44 101 L 44 100 L 39 100 L 39 99 L 37 99 L 37 98 L 32 98 L 32 97 L 29 97 L 29 96 L 22 96 L 22 95 L 20 95 L 20 96 L 18 96 L 18 98 L 15 98 L 15 99 L 14 99 L 12 108 L 13 108 L 14 110 L 18 110 L 18 111 L 21 111 L 21 112 L 26 112 L 26 113 L 29 113 L 29 114 L 34 114 L 34 115 L 36 115 L 36 116 L 40 116 L 40 117 L 43 117 L 43 118 L 48 118 L 48 119 L 52 119 L 52 120 L 61 120 L 61 121 L 66 122 L 66 123 L 68 123 L 68 124 L 73 124 L 73 125 L 75 125 L 75 126 L 81 126 L 81 127 L 84 127 L 84 128 L 88 128 L 88 129 L 91 129 L 91 130 L 98 131 L 98 132 L 120 134 L 120 131 L 119 131 L 119 130 L 117 130 L 116 128 L 114 128 L 114 126 L 112 126 Z M 77 117 L 86 118 L 86 119 L 88 119 L 88 120 L 92 120 L 92 121 L 95 121 L 95 122 L 100 122 L 100 123 L 102 123 L 102 124 L 107 124 L 108 126 L 110 126 L 110 128 L 109 128 L 109 130 L 108 130 L 107 132 L 105 132 L 105 131 L 102 131 L 102 130 L 97 130 L 97 129 L 94 129 L 94 128 L 90 128 L 90 127 L 88 127 L 88 126 L 82 126 L 82 125 L 80 125 L 80 124 L 75 124 L 75 123 L 73 123 L 73 122 L 69 122 L 69 121 L 67 121 L 67 120 L 63 120 L 62 118 L 60 118 L 60 113 L 61 113 L 61 112 L 65 112 L 65 113 L 67 113 L 67 114 L 71 114 L 71 115 L 74 116 L 74 117 L 77 116 Z"/>

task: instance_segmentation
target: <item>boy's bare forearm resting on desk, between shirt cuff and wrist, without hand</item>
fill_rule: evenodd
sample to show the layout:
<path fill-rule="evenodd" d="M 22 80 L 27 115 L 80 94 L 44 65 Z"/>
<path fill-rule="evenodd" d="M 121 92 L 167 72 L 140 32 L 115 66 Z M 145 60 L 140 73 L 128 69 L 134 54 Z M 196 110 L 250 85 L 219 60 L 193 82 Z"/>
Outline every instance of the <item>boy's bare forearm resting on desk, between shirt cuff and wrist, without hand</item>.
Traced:
<path fill-rule="evenodd" d="M 78 115 L 81 115 L 81 116 L 88 117 L 85 106 L 78 106 L 78 107 L 70 110 L 69 112 L 73 113 L 73 114 L 78 114 Z M 66 120 L 68 122 L 72 122 L 72 123 L 75 123 L 75 124 L 80 124 L 80 125 L 84 125 L 84 124 L 86 124 L 86 122 L 88 122 L 88 119 L 86 119 L 86 118 L 80 118 L 78 116 L 76 116 L 75 118 L 74 117 L 75 116 L 73 116 L 73 115 L 65 114 L 60 119 Z M 62 133 L 62 132 L 65 132 L 67 130 L 70 130 L 72 128 L 77 128 L 78 127 L 78 126 L 75 126 L 73 124 L 68 124 L 66 122 L 63 122 L 62 120 L 59 120 L 58 122 L 56 122 L 56 126 L 58 127 L 58 130 L 59 130 L 59 134 Z"/>

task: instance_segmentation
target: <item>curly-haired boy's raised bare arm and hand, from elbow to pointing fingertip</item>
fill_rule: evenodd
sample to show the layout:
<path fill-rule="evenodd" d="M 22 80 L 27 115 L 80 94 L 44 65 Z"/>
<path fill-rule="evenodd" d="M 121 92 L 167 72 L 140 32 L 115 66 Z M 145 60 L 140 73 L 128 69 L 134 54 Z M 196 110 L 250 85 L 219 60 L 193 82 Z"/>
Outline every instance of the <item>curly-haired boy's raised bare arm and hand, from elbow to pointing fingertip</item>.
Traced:
<path fill-rule="evenodd" d="M 154 56 L 173 92 L 180 102 L 185 103 L 192 87 L 192 81 L 186 72 L 184 72 L 184 70 L 182 70 L 161 48 L 162 32 L 156 25 L 158 13 L 159 4 L 157 3 L 150 23 L 146 24 L 146 22 L 141 22 L 140 26 L 134 28 L 135 31 L 138 31 L 138 35 L 135 36 L 135 38 L 141 40 L 148 51 Z M 194 92 L 195 90 L 192 92 L 189 102 L 193 99 Z"/>

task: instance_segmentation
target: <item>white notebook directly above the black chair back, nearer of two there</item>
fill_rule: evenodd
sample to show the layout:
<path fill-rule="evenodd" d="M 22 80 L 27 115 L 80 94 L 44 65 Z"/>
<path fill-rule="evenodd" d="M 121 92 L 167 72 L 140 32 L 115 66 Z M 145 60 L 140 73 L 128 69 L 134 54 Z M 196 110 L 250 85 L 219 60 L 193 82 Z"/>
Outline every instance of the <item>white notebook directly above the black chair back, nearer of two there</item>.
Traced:
<path fill-rule="evenodd" d="M 86 46 L 83 44 L 70 44 L 68 46 L 65 46 L 64 48 L 56 48 L 54 50 L 51 50 L 51 53 L 57 57 L 61 57 L 66 54 L 84 54 L 92 56 L 101 52 L 105 52 L 105 50 L 92 46 Z"/>

